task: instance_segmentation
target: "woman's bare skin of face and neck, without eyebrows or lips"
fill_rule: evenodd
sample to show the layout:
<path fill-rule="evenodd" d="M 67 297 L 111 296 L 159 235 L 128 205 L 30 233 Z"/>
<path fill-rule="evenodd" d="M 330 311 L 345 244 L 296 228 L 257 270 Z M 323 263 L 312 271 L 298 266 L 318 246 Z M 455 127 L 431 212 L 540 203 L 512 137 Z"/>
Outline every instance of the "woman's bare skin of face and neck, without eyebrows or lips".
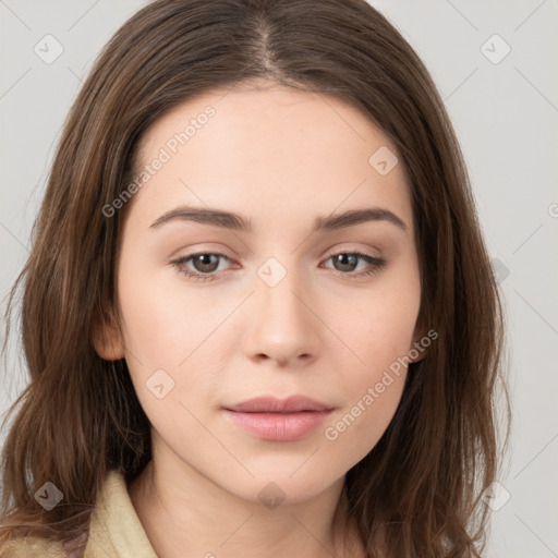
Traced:
<path fill-rule="evenodd" d="M 405 367 L 336 440 L 324 432 L 423 335 L 415 330 L 421 286 L 408 180 L 401 163 L 386 175 L 368 163 L 380 146 L 397 150 L 339 100 L 270 83 L 223 95 L 181 105 L 141 144 L 143 168 L 185 122 L 207 105 L 216 109 L 126 208 L 120 329 L 106 326 L 97 352 L 125 356 L 153 426 L 154 459 L 130 496 L 166 558 L 364 556 L 340 523 L 344 475 L 386 430 Z M 239 213 L 254 231 L 178 219 L 150 228 L 182 204 Z M 378 220 L 311 233 L 318 216 L 368 206 L 389 209 L 407 230 Z M 213 281 L 189 279 L 171 263 L 216 251 L 229 259 L 217 260 Z M 355 278 L 371 265 L 336 266 L 330 257 L 355 251 L 387 263 Z M 269 257 L 287 272 L 275 287 L 257 275 Z M 207 264 L 183 267 L 202 275 Z M 161 368 L 174 387 L 159 399 L 146 380 Z M 293 393 L 335 407 L 298 441 L 257 439 L 221 410 Z M 274 509 L 258 498 L 270 482 L 284 495 Z"/>

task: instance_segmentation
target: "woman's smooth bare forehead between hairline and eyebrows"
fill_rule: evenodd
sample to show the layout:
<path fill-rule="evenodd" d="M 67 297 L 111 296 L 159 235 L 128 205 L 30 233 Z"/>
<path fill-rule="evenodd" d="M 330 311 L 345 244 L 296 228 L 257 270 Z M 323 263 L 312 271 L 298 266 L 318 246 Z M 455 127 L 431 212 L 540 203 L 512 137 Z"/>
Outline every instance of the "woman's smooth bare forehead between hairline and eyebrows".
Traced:
<path fill-rule="evenodd" d="M 378 171 L 376 154 L 392 166 L 387 173 Z M 326 94 L 268 85 L 198 96 L 144 134 L 137 171 L 157 158 L 163 165 L 134 196 L 149 215 L 184 203 L 311 219 L 337 207 L 381 205 L 408 223 L 412 218 L 389 137 Z"/>

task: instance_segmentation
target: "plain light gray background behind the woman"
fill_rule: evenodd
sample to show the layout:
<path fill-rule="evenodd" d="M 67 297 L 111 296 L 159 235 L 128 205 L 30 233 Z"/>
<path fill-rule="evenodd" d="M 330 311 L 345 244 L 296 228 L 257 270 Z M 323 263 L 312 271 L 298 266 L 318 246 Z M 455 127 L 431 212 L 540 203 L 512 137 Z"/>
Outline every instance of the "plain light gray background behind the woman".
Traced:
<path fill-rule="evenodd" d="M 2 311 L 70 105 L 97 52 L 145 3 L 0 0 Z M 371 3 L 416 49 L 442 94 L 505 299 L 514 416 L 501 483 L 511 497 L 493 514 L 486 556 L 558 556 L 558 2 Z M 47 34 L 64 49 L 50 64 L 34 51 Z M 511 48 L 498 63 L 506 46 L 488 40 L 495 34 Z M 2 363 L 0 413 L 25 386 L 20 354 L 10 345 L 8 371 Z"/>

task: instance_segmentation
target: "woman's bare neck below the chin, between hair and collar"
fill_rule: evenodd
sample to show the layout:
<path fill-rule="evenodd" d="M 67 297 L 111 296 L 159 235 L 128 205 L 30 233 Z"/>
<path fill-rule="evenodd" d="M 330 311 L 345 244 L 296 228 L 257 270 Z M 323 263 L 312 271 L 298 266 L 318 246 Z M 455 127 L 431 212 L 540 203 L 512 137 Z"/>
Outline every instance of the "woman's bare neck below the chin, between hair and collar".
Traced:
<path fill-rule="evenodd" d="M 354 548 L 355 530 L 347 529 L 344 477 L 310 500 L 271 509 L 222 489 L 192 468 L 180 477 L 171 471 L 177 469 L 154 459 L 129 486 L 158 556 L 323 558 L 362 554 Z M 345 550 L 348 539 L 353 543 L 351 553 Z"/>

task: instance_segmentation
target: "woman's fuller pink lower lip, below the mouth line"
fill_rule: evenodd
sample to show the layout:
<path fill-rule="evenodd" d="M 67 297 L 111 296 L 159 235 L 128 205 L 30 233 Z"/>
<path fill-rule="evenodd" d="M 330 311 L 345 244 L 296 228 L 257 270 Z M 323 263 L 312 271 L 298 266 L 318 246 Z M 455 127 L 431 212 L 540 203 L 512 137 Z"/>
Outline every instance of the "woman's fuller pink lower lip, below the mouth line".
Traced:
<path fill-rule="evenodd" d="M 241 413 L 225 409 L 225 415 L 256 438 L 270 441 L 294 441 L 315 430 L 331 411 L 298 413 Z"/>

